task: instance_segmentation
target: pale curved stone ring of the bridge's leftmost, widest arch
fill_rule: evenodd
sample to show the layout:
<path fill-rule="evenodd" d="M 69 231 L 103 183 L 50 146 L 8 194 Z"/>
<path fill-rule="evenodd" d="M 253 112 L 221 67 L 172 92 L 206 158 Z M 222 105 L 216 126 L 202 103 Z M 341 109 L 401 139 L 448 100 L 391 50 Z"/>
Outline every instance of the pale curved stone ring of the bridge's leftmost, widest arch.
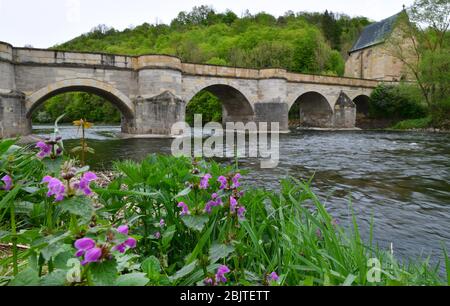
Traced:
<path fill-rule="evenodd" d="M 31 118 L 32 113 L 48 99 L 66 92 L 82 91 L 96 94 L 115 105 L 123 117 L 128 121 L 135 115 L 134 104 L 122 92 L 111 84 L 94 79 L 70 79 L 50 84 L 29 95 L 26 99 L 26 116 Z"/>

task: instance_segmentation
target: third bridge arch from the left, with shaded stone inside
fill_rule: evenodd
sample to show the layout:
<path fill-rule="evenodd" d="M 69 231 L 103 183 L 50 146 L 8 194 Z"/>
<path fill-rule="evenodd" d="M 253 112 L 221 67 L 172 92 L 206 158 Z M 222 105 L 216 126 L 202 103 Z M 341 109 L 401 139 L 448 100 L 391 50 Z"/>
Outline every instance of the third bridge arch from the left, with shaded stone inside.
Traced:
<path fill-rule="evenodd" d="M 325 96 L 309 91 L 295 100 L 289 115 L 299 119 L 303 126 L 329 127 L 332 126 L 333 109 Z"/>

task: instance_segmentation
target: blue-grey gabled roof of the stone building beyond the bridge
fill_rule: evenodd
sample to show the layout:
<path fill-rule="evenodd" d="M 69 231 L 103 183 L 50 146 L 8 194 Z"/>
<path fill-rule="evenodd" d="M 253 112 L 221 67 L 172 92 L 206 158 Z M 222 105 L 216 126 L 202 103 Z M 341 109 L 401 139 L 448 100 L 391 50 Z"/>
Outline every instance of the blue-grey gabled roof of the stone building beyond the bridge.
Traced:
<path fill-rule="evenodd" d="M 350 53 L 384 42 L 402 13 L 404 11 L 365 27 Z"/>

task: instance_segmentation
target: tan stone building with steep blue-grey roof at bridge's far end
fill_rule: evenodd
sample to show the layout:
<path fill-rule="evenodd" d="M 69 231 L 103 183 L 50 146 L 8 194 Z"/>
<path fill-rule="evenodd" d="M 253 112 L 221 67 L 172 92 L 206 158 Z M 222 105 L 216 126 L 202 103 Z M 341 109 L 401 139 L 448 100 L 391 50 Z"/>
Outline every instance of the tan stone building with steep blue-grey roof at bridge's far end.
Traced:
<path fill-rule="evenodd" d="M 405 12 L 402 11 L 380 22 L 373 23 L 361 33 L 361 36 L 349 52 L 345 65 L 345 76 L 382 81 L 400 81 L 409 79 L 405 65 L 392 56 L 387 41 L 392 37 L 401 37 L 400 22 Z M 409 41 L 403 40 L 405 49 Z"/>

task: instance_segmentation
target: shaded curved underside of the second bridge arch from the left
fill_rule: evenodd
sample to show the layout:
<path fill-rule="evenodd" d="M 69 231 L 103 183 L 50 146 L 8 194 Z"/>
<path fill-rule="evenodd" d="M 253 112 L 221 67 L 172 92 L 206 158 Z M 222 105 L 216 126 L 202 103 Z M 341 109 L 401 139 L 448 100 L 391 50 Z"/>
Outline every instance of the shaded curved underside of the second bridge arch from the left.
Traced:
<path fill-rule="evenodd" d="M 247 96 L 234 86 L 228 84 L 212 84 L 197 88 L 195 92 L 188 96 L 186 100 L 187 107 L 192 99 L 201 91 L 208 91 L 219 98 L 223 106 L 223 122 L 247 122 L 254 118 L 255 113 Z"/>

